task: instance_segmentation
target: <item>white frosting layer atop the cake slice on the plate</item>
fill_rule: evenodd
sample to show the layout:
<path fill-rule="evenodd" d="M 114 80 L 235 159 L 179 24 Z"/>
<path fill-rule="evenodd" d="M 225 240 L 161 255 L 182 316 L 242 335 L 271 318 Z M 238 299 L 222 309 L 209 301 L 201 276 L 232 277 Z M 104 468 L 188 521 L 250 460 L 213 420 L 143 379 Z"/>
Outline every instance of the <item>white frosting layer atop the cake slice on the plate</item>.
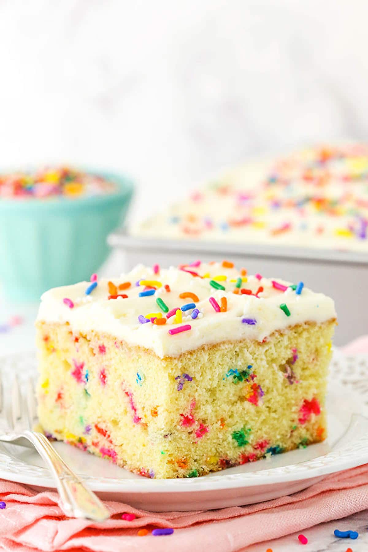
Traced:
<path fill-rule="evenodd" d="M 242 288 L 256 293 L 259 286 L 262 286 L 264 291 L 259 293 L 259 298 L 254 295 L 236 295 L 233 293 L 236 282 L 231 280 L 237 279 L 240 273 L 235 268 L 223 268 L 221 263 L 201 263 L 199 267 L 185 266 L 185 269 L 201 275 L 209 273 L 211 277 L 226 275 L 226 281 L 218 282 L 226 290 L 216 290 L 210 285 L 210 278 L 194 277 L 182 269 L 170 267 L 154 274 L 152 268 L 138 265 L 120 278 L 111 278 L 115 285 L 131 283 L 129 289 L 118 291 L 128 295 L 128 298 L 109 300 L 107 279 L 98 280 L 97 288 L 90 295 L 85 293 L 90 282 L 54 288 L 42 295 L 38 321 L 68 322 L 71 330 L 76 333 L 102 332 L 129 344 L 151 349 L 159 357 L 175 357 L 204 344 L 228 339 L 250 338 L 262 341 L 275 330 L 284 330 L 288 326 L 307 321 L 321 323 L 336 316 L 332 299 L 321 293 L 313 293 L 307 288 L 303 288 L 302 293 L 297 295 L 291 288 L 287 288 L 285 292 L 275 289 L 270 279 L 259 280 L 255 276 L 249 276 L 248 281 L 242 283 Z M 158 280 L 162 286 L 154 295 L 140 297 L 138 294 L 143 291 L 144 286 L 137 286 L 136 282 L 142 279 Z M 290 284 L 279 279 L 276 281 Z M 170 291 L 164 288 L 165 284 L 170 286 Z M 180 294 L 188 291 L 197 295 L 199 301 L 179 298 Z M 151 321 L 143 324 L 138 322 L 139 315 L 162 312 L 156 303 L 158 297 L 166 303 L 169 310 L 195 302 L 200 314 L 198 318 L 191 319 L 190 309 L 183 312 L 182 323 L 175 323 L 173 316 L 162 326 Z M 227 311 L 216 312 L 210 304 L 210 297 L 215 298 L 218 304 L 222 297 L 226 297 Z M 73 308 L 63 302 L 65 298 L 73 301 Z M 290 316 L 286 316 L 280 309 L 280 304 L 287 305 Z M 163 312 L 162 315 L 166 316 Z M 254 319 L 257 323 L 248 325 L 242 322 L 244 318 Z M 191 326 L 191 330 L 169 334 L 170 329 L 186 324 Z"/>

